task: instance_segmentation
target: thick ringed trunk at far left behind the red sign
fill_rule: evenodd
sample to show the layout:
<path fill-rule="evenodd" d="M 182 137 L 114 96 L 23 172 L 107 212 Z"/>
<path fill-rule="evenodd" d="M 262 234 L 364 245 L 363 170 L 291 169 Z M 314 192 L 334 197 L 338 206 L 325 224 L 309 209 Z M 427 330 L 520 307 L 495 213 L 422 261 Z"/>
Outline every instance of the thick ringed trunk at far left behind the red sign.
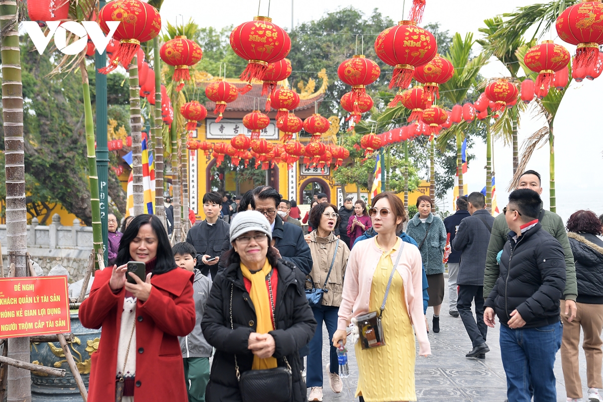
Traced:
<path fill-rule="evenodd" d="M 28 275 L 27 208 L 25 207 L 25 152 L 23 139 L 23 84 L 16 0 L 2 0 L 0 29 L 2 55 L 2 117 L 6 158 L 6 229 L 8 263 L 15 276 Z M 30 361 L 30 339 L 8 339 L 8 357 Z M 28 370 L 8 366 L 7 402 L 31 402 L 31 375 Z"/>

